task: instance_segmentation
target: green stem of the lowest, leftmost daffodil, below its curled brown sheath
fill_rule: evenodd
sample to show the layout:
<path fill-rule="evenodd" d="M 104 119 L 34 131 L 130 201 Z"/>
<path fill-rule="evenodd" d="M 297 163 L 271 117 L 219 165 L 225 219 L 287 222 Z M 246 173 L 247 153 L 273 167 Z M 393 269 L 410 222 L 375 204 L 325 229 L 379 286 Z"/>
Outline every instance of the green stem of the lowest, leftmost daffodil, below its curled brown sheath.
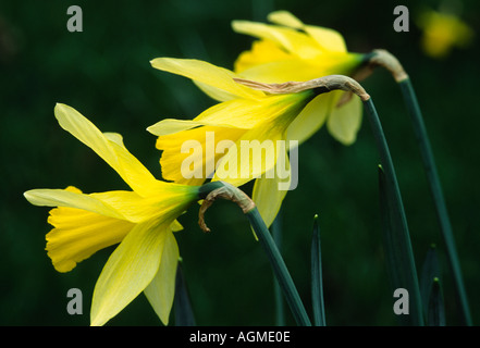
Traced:
<path fill-rule="evenodd" d="M 255 233 L 257 234 L 260 244 L 267 252 L 267 257 L 270 260 L 270 264 L 276 276 L 276 279 L 285 295 L 286 302 L 288 303 L 295 321 L 300 326 L 311 326 L 310 320 L 307 315 L 307 311 L 301 302 L 300 296 L 295 287 L 292 276 L 286 269 L 285 262 L 280 254 L 279 248 L 273 241 L 270 232 L 264 224 L 263 220 L 258 212 L 257 207 L 246 213 Z"/>

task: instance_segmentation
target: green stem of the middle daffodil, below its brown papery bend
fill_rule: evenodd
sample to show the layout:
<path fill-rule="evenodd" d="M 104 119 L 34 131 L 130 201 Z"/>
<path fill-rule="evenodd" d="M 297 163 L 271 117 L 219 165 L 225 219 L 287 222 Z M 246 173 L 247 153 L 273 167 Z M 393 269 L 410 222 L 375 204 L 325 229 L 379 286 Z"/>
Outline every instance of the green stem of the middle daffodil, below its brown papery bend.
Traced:
<path fill-rule="evenodd" d="M 367 110 L 367 115 L 370 121 L 370 125 L 373 132 L 373 136 L 377 142 L 377 148 L 380 152 L 380 160 L 382 163 L 383 171 L 385 173 L 386 187 L 390 189 L 392 195 L 393 208 L 399 214 L 399 223 L 402 224 L 402 231 L 405 234 L 404 240 L 406 240 L 405 246 L 407 253 L 407 260 L 409 262 L 409 279 L 406 288 L 409 291 L 409 298 L 411 303 L 411 312 L 413 312 L 413 323 L 414 325 L 423 326 L 423 315 L 422 315 L 422 307 L 420 299 L 420 288 L 418 284 L 417 270 L 415 266 L 415 258 L 411 248 L 410 236 L 408 233 L 407 219 L 405 216 L 404 204 L 402 201 L 402 195 L 398 187 L 398 182 L 396 179 L 395 169 L 393 165 L 392 157 L 390 154 L 389 145 L 386 144 L 385 135 L 383 133 L 382 125 L 380 123 L 379 115 L 377 113 L 377 109 L 373 104 L 371 98 L 364 101 L 364 105 Z"/>

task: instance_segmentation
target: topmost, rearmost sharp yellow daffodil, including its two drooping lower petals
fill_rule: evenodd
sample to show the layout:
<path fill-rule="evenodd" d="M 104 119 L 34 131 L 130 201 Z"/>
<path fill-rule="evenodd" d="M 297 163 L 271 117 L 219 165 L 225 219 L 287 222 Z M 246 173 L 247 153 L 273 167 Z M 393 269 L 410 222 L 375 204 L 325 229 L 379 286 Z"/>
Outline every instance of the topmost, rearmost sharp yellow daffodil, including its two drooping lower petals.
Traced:
<path fill-rule="evenodd" d="M 258 38 L 250 50 L 239 54 L 234 71 L 262 83 L 304 82 L 327 75 L 350 75 L 365 54 L 347 51 L 337 32 L 306 25 L 286 11 L 269 14 L 264 24 L 234 21 L 233 29 Z M 316 113 L 295 119 L 287 136 L 300 144 L 327 122 L 330 134 L 344 145 L 355 141 L 361 123 L 361 102 L 344 91 L 317 97 Z M 319 116 L 322 114 L 322 116 Z"/>

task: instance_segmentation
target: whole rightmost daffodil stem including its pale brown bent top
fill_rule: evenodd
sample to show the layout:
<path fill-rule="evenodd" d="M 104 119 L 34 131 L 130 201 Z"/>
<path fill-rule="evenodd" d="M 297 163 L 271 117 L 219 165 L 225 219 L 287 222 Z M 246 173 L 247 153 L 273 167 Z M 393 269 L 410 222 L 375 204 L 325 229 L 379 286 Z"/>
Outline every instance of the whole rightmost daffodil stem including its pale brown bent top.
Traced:
<path fill-rule="evenodd" d="M 401 92 L 407 107 L 407 111 L 410 115 L 415 138 L 420 150 L 423 170 L 427 175 L 430 192 L 433 197 L 433 204 L 440 225 L 440 231 L 446 247 L 448 266 L 454 277 L 455 291 L 457 294 L 461 318 L 464 323 L 470 326 L 472 324 L 470 308 L 468 304 L 468 296 L 464 284 L 460 263 L 458 260 L 455 237 L 453 234 L 442 185 L 436 170 L 433 151 L 427 133 L 427 127 L 424 125 L 423 116 L 420 110 L 420 105 L 418 103 L 417 95 L 411 84 L 411 79 L 405 72 L 399 61 L 392 53 L 385 50 L 374 50 L 369 57 L 368 66 L 381 66 L 387 70 L 401 88 Z"/>

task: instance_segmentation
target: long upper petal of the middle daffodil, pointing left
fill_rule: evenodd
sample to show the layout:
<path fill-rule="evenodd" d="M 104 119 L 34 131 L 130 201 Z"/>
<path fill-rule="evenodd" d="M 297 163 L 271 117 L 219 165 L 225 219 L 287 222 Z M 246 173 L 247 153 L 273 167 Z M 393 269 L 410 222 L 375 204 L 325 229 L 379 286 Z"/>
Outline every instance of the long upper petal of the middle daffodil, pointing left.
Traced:
<path fill-rule="evenodd" d="M 236 75 L 223 67 L 193 59 L 157 58 L 151 65 L 161 71 L 182 75 L 193 80 L 219 88 L 238 98 L 259 98 L 263 92 L 236 84 Z"/>

